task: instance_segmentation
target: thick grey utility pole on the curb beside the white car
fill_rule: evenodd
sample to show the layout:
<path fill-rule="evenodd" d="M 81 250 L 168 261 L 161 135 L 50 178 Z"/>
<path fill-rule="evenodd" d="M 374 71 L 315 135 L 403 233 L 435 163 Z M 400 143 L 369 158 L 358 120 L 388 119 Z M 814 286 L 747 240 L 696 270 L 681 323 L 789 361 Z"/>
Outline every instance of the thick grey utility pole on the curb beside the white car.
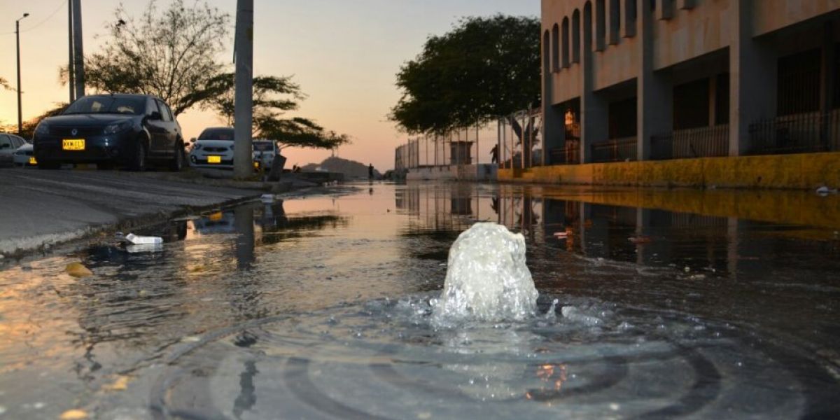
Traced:
<path fill-rule="evenodd" d="M 254 0 L 237 0 L 235 37 L 234 179 L 244 180 L 254 173 L 251 166 L 251 127 L 254 117 L 254 69 L 251 66 L 254 60 Z"/>

